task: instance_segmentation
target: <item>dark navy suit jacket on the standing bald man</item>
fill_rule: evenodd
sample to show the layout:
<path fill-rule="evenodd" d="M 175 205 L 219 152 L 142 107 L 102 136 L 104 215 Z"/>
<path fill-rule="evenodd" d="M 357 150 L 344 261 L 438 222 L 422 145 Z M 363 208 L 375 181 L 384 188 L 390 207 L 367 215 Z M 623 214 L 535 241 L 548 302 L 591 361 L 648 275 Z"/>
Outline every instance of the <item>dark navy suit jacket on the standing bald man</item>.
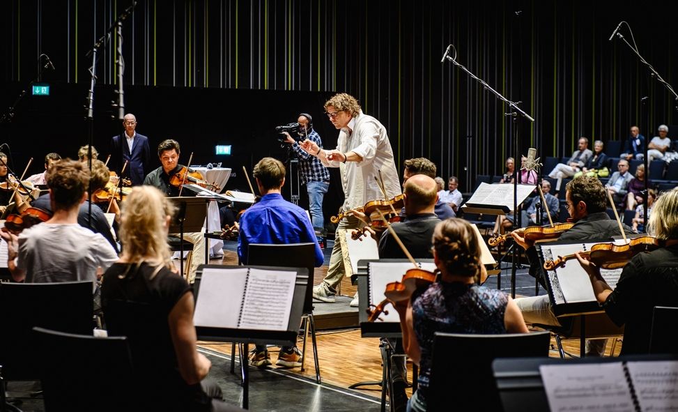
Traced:
<path fill-rule="evenodd" d="M 125 167 L 123 176 L 129 177 L 134 186 L 144 183 L 146 171 L 151 169 L 149 167 L 151 162 L 151 147 L 148 146 L 148 137 L 137 133 L 137 135 L 134 136 L 132 153 L 130 153 L 130 147 L 127 144 L 125 132 L 122 132 L 120 135 L 114 136 L 111 139 L 110 153 L 111 160 L 109 160 L 109 169 L 117 171 L 118 174 L 120 174 L 120 170 L 125 164 L 125 160 L 128 160 L 128 165 Z"/>

